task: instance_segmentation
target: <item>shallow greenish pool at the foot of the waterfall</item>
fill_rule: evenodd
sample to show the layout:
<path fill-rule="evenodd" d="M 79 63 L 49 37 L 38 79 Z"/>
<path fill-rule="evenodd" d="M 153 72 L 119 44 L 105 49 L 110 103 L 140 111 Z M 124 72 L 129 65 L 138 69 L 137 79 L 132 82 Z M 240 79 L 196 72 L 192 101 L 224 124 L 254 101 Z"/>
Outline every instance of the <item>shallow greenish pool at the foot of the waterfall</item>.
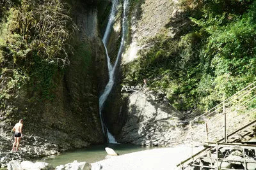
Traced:
<path fill-rule="evenodd" d="M 126 144 L 106 144 L 106 145 L 94 145 L 88 148 L 83 148 L 79 150 L 74 150 L 72 152 L 65 152 L 61 155 L 56 155 L 56 157 L 47 157 L 40 161 L 52 164 L 52 166 L 65 165 L 67 163 L 77 160 L 78 162 L 86 161 L 88 163 L 97 162 L 99 160 L 106 159 L 107 153 L 105 148 L 109 147 L 115 150 L 119 155 L 124 155 L 126 153 L 138 152 L 141 150 L 150 150 L 152 147 L 144 147 L 139 145 L 126 145 Z"/>

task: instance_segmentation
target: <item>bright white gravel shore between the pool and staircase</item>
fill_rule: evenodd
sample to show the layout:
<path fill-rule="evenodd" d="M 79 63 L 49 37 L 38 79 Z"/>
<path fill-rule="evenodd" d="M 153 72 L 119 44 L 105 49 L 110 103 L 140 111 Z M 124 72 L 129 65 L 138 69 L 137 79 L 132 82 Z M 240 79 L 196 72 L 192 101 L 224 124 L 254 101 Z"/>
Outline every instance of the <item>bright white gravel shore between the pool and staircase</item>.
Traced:
<path fill-rule="evenodd" d="M 202 149 L 203 147 L 193 148 L 193 153 Z M 100 170 L 175 170 L 179 162 L 190 156 L 191 147 L 180 145 L 174 148 L 159 148 L 128 153 L 93 164 L 100 164 Z"/>

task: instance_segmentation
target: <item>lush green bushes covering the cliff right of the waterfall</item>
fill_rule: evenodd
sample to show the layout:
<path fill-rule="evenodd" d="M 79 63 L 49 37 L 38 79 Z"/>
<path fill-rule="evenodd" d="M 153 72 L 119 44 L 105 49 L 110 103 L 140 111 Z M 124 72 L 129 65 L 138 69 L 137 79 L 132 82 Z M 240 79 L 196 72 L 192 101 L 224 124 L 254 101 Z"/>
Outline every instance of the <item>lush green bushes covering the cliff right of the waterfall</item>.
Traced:
<path fill-rule="evenodd" d="M 178 110 L 207 110 L 232 96 L 256 73 L 256 2 L 182 3 L 190 21 L 178 38 L 150 39 L 147 50 L 125 68 L 124 83 L 148 80 Z"/>

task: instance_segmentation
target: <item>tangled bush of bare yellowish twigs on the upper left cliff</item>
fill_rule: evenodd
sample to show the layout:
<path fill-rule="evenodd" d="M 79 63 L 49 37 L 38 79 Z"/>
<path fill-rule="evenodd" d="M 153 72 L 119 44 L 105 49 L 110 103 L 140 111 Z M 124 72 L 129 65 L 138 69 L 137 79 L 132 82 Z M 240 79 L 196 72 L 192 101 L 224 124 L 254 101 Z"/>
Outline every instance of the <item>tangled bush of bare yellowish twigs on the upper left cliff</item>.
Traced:
<path fill-rule="evenodd" d="M 14 37 L 10 35 L 10 40 L 6 39 L 16 40 L 15 42 L 22 45 L 14 44 L 15 48 L 10 48 L 13 51 L 35 50 L 44 59 L 61 66 L 68 64 L 67 57 L 71 50 L 68 41 L 72 39 L 76 30 L 68 11 L 67 4 L 58 0 L 22 0 L 19 8 L 14 8 L 10 15 L 8 29 L 14 33 Z M 17 57 L 28 57 L 26 52 L 22 54 L 17 56 L 15 53 L 14 61 Z"/>

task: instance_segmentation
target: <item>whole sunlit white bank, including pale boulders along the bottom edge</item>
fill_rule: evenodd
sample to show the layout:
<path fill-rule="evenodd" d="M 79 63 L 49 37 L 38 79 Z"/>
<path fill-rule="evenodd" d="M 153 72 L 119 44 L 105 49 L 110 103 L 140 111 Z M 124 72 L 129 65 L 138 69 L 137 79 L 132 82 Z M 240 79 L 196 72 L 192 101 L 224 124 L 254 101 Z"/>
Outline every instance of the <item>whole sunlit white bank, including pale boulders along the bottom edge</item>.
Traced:
<path fill-rule="evenodd" d="M 202 150 L 203 147 L 193 148 L 193 152 L 196 153 Z M 107 155 L 107 153 L 106 153 Z M 109 159 L 100 160 L 98 162 L 90 164 L 90 162 L 72 160 L 72 163 L 65 165 L 59 165 L 55 169 L 91 169 L 91 170 L 165 170 L 165 169 L 177 169 L 176 165 L 184 159 L 187 159 L 191 155 L 191 147 L 185 145 L 175 146 L 173 148 L 156 148 L 152 150 L 144 150 L 140 152 L 127 153 L 120 156 L 108 156 Z M 8 165 L 8 170 L 12 169 L 47 169 L 52 170 L 55 166 L 47 164 L 45 162 L 30 162 L 12 160 Z"/>

